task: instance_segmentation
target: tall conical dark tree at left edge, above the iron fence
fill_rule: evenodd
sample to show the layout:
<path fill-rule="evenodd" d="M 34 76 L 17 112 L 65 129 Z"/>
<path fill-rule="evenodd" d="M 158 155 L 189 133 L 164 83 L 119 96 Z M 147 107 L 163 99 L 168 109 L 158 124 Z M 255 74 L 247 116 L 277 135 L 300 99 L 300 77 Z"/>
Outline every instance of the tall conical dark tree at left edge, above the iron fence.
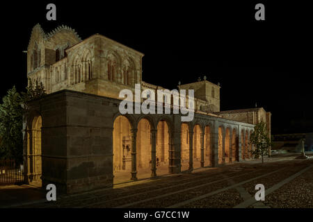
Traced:
<path fill-rule="evenodd" d="M 22 160 L 22 97 L 15 86 L 8 90 L 0 104 L 0 158 Z"/>

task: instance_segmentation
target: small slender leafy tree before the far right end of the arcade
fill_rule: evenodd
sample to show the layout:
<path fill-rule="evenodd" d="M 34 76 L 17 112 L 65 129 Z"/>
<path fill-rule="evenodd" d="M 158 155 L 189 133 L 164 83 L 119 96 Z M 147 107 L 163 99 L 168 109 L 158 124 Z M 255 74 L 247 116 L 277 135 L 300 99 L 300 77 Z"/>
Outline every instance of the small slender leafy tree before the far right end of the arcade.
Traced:
<path fill-rule="evenodd" d="M 264 163 L 264 155 L 268 154 L 268 148 L 271 147 L 271 137 L 268 135 L 266 123 L 260 121 L 255 125 L 255 130 L 250 135 L 250 144 L 255 146 L 254 151 L 250 151 L 252 155 L 262 157 L 262 164 Z"/>

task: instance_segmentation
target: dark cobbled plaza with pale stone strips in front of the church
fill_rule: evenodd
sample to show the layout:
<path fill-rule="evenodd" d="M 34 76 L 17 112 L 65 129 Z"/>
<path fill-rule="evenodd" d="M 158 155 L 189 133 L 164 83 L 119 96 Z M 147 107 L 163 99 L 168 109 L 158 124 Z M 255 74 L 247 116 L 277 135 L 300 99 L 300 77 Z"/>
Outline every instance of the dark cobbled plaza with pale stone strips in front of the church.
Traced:
<path fill-rule="evenodd" d="M 59 196 L 47 202 L 45 193 L 29 186 L 0 189 L 1 207 L 313 207 L 313 154 L 280 154 L 259 160 L 198 168 L 193 173 L 163 175 L 120 182 L 113 189 Z M 255 185 L 263 184 L 265 200 L 255 200 Z M 14 187 L 14 186 L 13 186 Z M 15 198 L 12 198 L 18 191 Z M 3 195 L 6 194 L 6 195 Z M 21 200 L 18 196 L 24 196 Z M 26 201 L 26 197 L 29 200 Z M 11 197 L 11 198 L 10 198 Z M 37 199 L 36 199 L 37 198 Z"/>

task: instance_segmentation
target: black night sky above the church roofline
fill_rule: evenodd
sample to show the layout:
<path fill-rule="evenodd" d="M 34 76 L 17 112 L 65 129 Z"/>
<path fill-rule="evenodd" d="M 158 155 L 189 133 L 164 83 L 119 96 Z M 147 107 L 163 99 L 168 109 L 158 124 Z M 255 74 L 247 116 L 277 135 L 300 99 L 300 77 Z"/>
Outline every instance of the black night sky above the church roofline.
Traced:
<path fill-rule="evenodd" d="M 220 83 L 220 110 L 263 107 L 272 133 L 313 132 L 312 23 L 305 5 L 257 1 L 24 1 L 2 8 L 1 97 L 26 87 L 31 30 L 58 25 L 82 39 L 95 33 L 145 54 L 143 80 L 168 89 L 207 76 Z M 56 3 L 56 21 L 47 21 Z M 265 21 L 255 20 L 264 3 Z M 9 13 L 4 13 L 9 12 Z M 6 42 L 4 42 L 6 41 Z"/>

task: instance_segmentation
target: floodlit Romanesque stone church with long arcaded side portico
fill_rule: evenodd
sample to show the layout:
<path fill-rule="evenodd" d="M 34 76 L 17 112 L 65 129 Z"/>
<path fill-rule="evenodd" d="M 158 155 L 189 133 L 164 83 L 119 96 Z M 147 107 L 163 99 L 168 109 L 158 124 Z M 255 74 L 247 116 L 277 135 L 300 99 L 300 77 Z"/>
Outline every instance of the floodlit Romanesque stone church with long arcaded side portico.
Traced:
<path fill-rule="evenodd" d="M 220 111 L 220 85 L 206 79 L 178 86 L 195 90 L 193 121 L 172 112 L 120 114 L 120 90 L 163 89 L 143 82 L 143 56 L 103 35 L 81 40 L 67 26 L 51 33 L 33 27 L 27 77 L 47 96 L 31 101 L 24 117 L 27 182 L 70 194 L 125 178 L 188 173 L 250 159 L 249 137 L 259 121 L 271 134 L 270 112 Z"/>

